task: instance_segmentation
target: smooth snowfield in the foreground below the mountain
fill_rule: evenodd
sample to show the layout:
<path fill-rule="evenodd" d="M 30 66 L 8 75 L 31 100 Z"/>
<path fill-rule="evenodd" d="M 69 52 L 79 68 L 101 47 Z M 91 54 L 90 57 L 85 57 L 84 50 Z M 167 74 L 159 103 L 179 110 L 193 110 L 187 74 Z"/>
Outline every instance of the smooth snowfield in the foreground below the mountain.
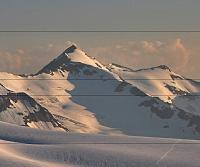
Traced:
<path fill-rule="evenodd" d="M 44 131 L 0 122 L 1 167 L 197 167 L 195 140 Z"/>

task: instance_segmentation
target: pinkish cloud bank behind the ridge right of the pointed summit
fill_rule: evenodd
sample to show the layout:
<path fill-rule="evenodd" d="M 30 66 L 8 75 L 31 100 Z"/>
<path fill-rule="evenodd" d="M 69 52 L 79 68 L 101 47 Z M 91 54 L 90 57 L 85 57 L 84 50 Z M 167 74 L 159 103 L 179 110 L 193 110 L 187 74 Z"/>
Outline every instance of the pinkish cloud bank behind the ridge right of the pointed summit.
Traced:
<path fill-rule="evenodd" d="M 190 50 L 180 38 L 170 42 L 129 41 L 121 44 L 89 49 L 90 54 L 106 63 L 119 63 L 133 69 L 168 65 L 177 73 L 184 73 L 190 60 Z"/>

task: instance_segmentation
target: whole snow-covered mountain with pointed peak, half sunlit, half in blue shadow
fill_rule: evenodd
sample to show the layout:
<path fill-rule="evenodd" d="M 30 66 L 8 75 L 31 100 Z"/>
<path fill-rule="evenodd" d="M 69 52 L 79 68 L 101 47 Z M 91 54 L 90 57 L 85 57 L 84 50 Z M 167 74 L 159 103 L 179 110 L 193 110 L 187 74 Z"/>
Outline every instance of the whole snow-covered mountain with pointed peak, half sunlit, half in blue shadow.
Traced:
<path fill-rule="evenodd" d="M 0 121 L 81 133 L 200 137 L 200 84 L 166 66 L 105 66 L 72 45 L 36 74 L 0 73 Z"/>

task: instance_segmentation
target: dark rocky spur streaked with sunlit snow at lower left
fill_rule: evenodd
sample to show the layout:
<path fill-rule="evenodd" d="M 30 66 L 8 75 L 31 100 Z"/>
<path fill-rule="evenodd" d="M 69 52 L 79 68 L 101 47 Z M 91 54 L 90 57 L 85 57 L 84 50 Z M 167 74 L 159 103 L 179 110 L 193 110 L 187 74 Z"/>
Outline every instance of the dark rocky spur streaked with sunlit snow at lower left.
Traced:
<path fill-rule="evenodd" d="M 26 93 L 15 93 L 2 85 L 0 88 L 0 120 L 32 128 L 67 130 Z"/>

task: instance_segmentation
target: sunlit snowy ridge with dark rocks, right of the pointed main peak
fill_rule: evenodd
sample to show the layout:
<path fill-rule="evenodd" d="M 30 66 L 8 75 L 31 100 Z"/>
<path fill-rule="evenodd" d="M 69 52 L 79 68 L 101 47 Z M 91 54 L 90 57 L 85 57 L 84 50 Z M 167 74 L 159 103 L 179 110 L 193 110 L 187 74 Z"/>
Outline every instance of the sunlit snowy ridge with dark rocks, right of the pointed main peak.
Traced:
<path fill-rule="evenodd" d="M 172 103 L 178 95 L 200 92 L 200 83 L 174 73 L 165 65 L 132 70 L 117 64 L 110 64 L 108 69 L 148 95 L 158 97 L 169 103 Z"/>

